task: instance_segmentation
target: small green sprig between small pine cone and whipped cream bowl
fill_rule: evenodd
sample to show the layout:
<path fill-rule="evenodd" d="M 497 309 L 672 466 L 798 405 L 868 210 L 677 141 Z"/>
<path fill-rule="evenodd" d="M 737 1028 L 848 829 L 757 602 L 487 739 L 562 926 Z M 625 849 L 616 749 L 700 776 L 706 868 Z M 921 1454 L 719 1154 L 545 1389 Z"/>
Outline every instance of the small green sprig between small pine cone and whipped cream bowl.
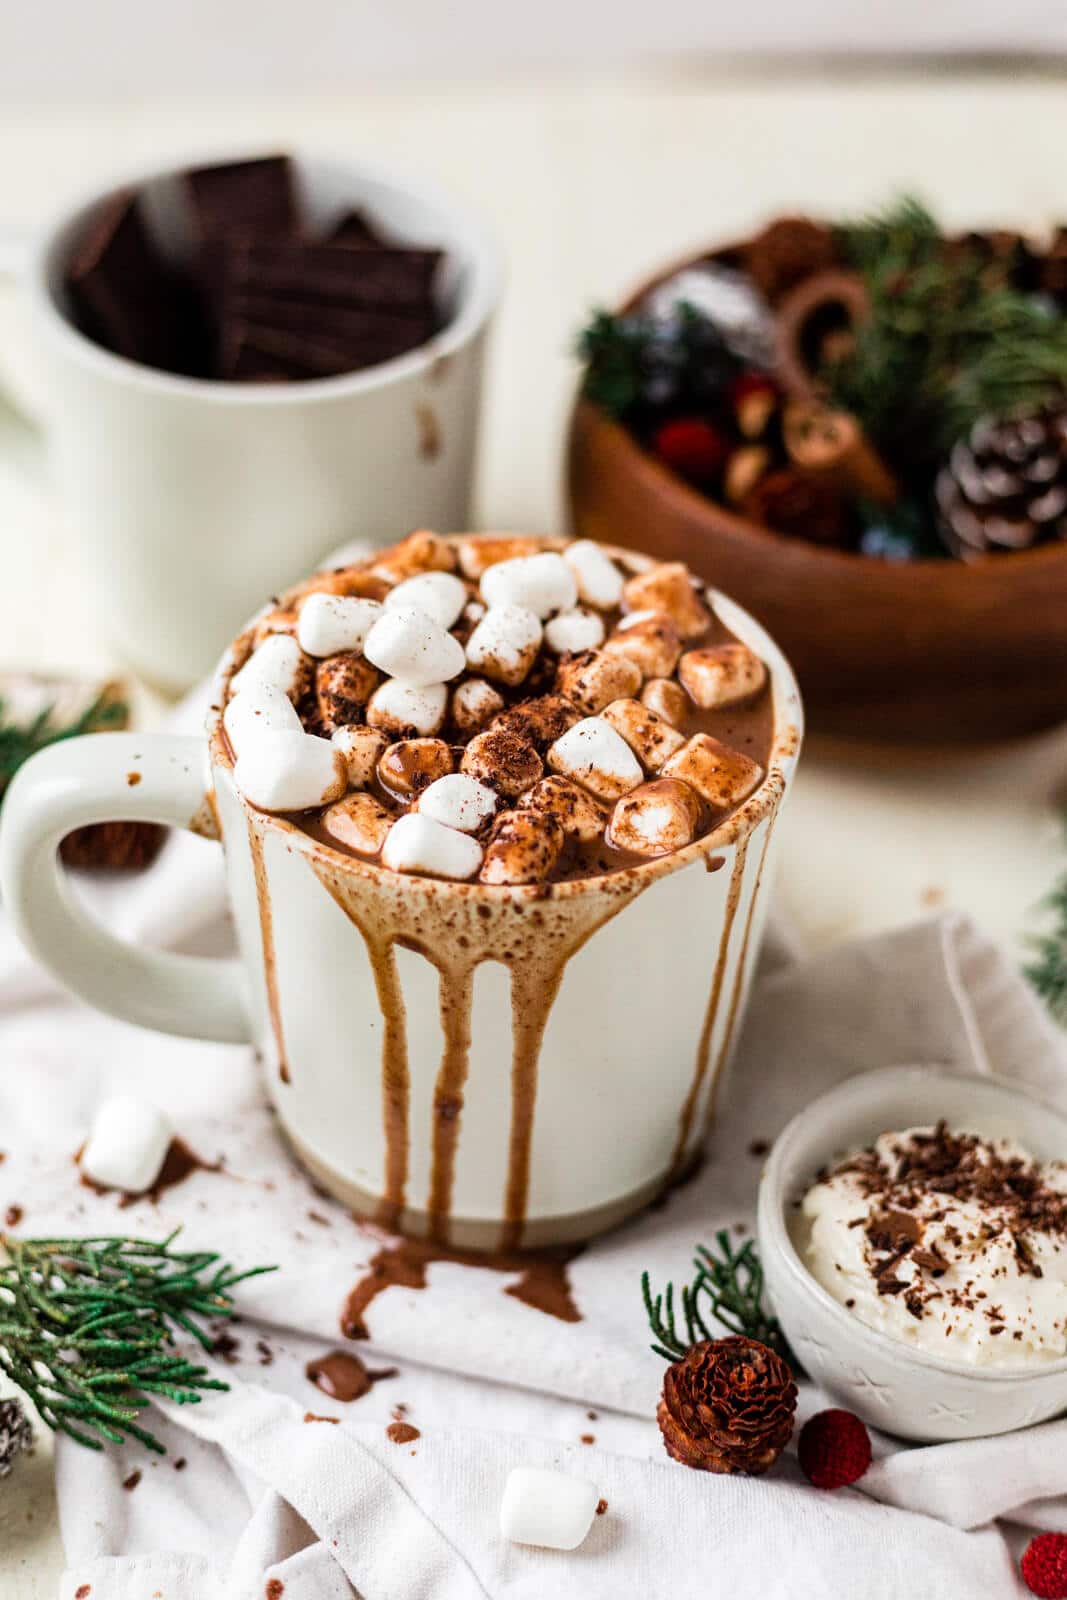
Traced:
<path fill-rule="evenodd" d="M 715 1250 L 707 1245 L 696 1246 L 693 1267 L 693 1282 L 681 1285 L 677 1310 L 673 1283 L 667 1283 L 662 1294 L 653 1296 L 649 1275 L 641 1274 L 641 1296 L 656 1339 L 653 1344 L 656 1355 L 677 1362 L 694 1344 L 721 1339 L 721 1330 L 726 1328 L 729 1333 L 758 1339 L 797 1368 L 777 1317 L 765 1309 L 763 1266 L 753 1240 L 734 1250 L 729 1234 L 721 1229 L 715 1235 Z M 720 1326 L 709 1326 L 709 1322 Z"/>

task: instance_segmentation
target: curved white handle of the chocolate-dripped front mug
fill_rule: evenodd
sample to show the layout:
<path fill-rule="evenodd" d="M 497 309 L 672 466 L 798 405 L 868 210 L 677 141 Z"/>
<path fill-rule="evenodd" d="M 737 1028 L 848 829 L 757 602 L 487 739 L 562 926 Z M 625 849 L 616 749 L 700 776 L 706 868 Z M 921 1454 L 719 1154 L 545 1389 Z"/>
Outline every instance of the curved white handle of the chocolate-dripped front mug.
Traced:
<path fill-rule="evenodd" d="M 107 933 L 70 890 L 58 850 L 91 822 L 163 822 L 200 832 L 200 738 L 91 733 L 16 773 L 0 813 L 0 893 L 32 955 L 59 982 L 125 1022 L 186 1038 L 248 1043 L 240 963 L 144 949 Z"/>

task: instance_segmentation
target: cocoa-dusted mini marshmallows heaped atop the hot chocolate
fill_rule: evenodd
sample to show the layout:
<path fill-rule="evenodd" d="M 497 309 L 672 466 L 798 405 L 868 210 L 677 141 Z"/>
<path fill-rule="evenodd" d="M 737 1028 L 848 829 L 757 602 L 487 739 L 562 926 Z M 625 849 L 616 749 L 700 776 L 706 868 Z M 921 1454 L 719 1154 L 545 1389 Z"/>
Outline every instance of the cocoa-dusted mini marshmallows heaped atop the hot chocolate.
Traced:
<path fill-rule="evenodd" d="M 715 635 L 681 563 L 419 531 L 258 619 L 224 710 L 234 781 L 395 872 L 525 885 L 568 843 L 662 856 L 763 778 L 694 728 L 766 685 Z"/>

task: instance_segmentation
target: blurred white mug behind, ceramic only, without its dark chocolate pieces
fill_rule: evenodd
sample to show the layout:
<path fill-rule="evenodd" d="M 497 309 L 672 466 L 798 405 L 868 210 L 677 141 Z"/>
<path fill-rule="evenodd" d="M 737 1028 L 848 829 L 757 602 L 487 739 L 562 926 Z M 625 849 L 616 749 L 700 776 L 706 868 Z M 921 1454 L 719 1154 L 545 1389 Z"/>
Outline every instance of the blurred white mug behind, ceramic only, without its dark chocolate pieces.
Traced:
<path fill-rule="evenodd" d="M 390 237 L 440 246 L 448 322 L 379 366 L 298 384 L 179 378 L 74 326 L 64 269 L 117 189 L 136 187 L 176 259 L 192 224 L 179 168 L 66 206 L 22 251 L 22 408 L 46 435 L 93 605 L 123 662 L 163 688 L 211 669 L 267 590 L 336 546 L 469 523 L 483 344 L 499 261 L 482 227 L 421 179 L 296 158 L 312 224 L 357 206 Z M 10 240 L 0 269 L 13 264 Z M 18 378 L 18 373 L 11 374 Z"/>

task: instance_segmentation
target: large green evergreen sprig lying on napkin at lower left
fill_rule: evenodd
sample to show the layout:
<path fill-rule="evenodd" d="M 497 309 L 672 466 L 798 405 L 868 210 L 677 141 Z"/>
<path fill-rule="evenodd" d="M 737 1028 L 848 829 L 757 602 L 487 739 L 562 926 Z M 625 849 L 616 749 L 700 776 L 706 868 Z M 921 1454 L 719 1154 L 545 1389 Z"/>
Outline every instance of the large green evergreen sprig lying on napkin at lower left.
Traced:
<path fill-rule="evenodd" d="M 235 1272 L 211 1251 L 139 1238 L 0 1235 L 0 1371 L 42 1421 L 90 1450 L 125 1435 L 163 1454 L 138 1422 L 150 1395 L 194 1405 L 229 1384 L 184 1357 L 181 1330 L 211 1350 L 197 1318 L 229 1317 L 230 1290 L 274 1267 Z"/>

